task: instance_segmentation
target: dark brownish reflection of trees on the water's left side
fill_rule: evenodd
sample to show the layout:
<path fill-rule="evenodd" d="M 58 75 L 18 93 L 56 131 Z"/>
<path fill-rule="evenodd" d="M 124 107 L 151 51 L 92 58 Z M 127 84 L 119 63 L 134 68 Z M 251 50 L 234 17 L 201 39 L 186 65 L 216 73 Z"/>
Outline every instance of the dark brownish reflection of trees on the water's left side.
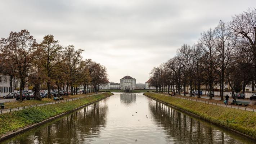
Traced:
<path fill-rule="evenodd" d="M 104 101 L 96 102 L 11 141 L 17 144 L 89 142 L 105 127 L 107 109 Z"/>

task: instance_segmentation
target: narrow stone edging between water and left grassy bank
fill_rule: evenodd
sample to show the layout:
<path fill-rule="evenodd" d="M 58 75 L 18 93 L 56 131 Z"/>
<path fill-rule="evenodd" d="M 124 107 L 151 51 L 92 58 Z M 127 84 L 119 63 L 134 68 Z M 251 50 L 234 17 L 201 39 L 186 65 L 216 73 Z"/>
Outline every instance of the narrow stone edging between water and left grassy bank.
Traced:
<path fill-rule="evenodd" d="M 111 93 L 111 94 L 113 95 L 113 93 Z M 111 95 L 109 95 L 109 96 L 111 96 Z M 3 135 L 3 136 L 1 136 L 1 138 L 0 138 L 0 142 L 1 142 L 1 141 L 4 141 L 4 140 L 6 140 L 6 139 L 12 138 L 12 137 L 15 136 L 15 135 L 21 134 L 21 133 L 24 132 L 24 131 L 33 129 L 33 128 L 37 127 L 37 126 L 40 126 L 40 125 L 42 125 L 42 124 L 44 124 L 44 123 L 46 123 L 46 122 L 53 121 L 53 120 L 55 120 L 56 118 L 59 118 L 59 117 L 61 117 L 61 116 L 64 116 L 64 115 L 66 115 L 66 114 L 68 114 L 68 113 L 71 113 L 71 112 L 74 112 L 74 111 L 76 111 L 76 110 L 78 110 L 78 109 L 81 109 L 81 108 L 83 108 L 83 107 L 86 107 L 87 105 L 90 105 L 90 104 L 93 104 L 93 103 L 98 102 L 98 101 L 100 101 L 100 100 L 103 100 L 103 99 L 105 99 L 105 98 L 107 98 L 107 97 L 109 97 L 109 96 L 105 96 L 104 98 L 98 99 L 98 100 L 96 100 L 96 101 L 94 101 L 94 102 L 87 103 L 87 104 L 82 105 L 82 106 L 80 106 L 80 107 L 78 107 L 78 108 L 72 109 L 71 111 L 68 111 L 68 112 L 59 114 L 59 115 L 57 115 L 57 116 L 51 117 L 51 118 L 49 118 L 48 120 L 44 120 L 44 121 L 41 121 L 41 122 L 39 122 L 39 123 L 35 123 L 35 124 L 33 124 L 33 125 L 27 126 L 27 127 L 23 128 L 23 129 L 21 129 L 21 130 L 13 131 L 13 132 L 11 132 L 10 134 Z"/>

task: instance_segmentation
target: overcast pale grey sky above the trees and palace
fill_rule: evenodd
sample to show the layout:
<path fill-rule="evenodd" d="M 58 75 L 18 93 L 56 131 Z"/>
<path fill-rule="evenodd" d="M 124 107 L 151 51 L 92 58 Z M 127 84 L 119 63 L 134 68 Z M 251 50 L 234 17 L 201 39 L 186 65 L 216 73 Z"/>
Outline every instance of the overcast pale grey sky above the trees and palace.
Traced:
<path fill-rule="evenodd" d="M 182 44 L 253 6 L 256 0 L 1 0 L 0 37 L 27 29 L 41 42 L 51 34 L 104 65 L 109 81 L 129 75 L 144 83 Z"/>

